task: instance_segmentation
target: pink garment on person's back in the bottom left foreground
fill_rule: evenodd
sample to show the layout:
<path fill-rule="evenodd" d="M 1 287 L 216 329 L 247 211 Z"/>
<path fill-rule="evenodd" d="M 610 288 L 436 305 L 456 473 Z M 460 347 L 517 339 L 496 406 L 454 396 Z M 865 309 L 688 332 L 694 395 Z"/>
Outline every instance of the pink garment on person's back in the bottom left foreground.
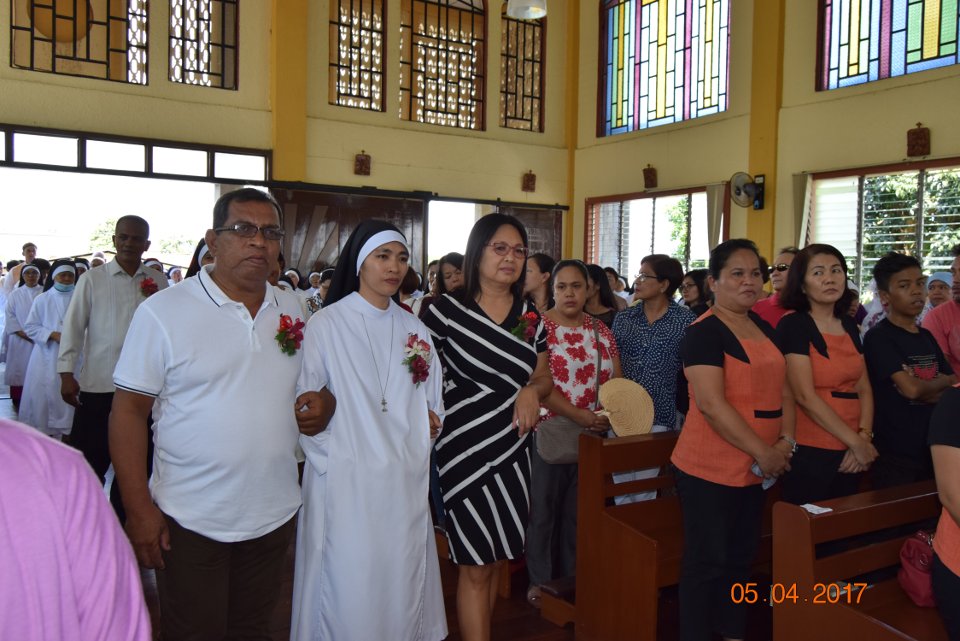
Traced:
<path fill-rule="evenodd" d="M 133 550 L 83 456 L 3 419 L 0 638 L 151 639 Z"/>

